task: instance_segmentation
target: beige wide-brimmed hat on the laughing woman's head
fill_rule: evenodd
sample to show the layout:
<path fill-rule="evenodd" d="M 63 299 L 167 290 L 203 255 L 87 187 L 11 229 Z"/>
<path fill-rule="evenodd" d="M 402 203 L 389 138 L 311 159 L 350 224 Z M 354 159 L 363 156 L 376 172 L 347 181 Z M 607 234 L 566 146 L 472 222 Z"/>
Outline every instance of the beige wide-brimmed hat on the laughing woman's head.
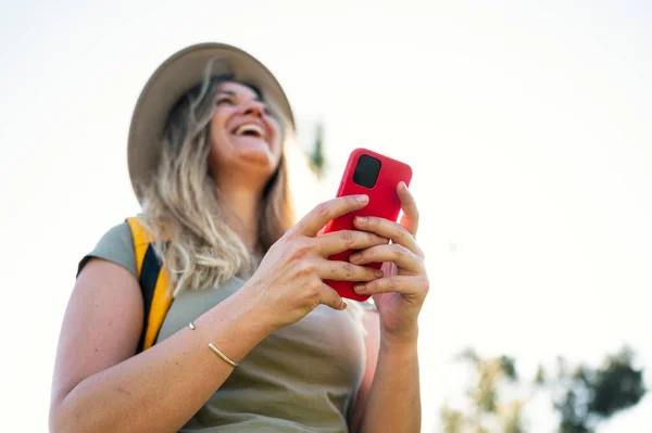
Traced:
<path fill-rule="evenodd" d="M 127 162 L 131 186 L 146 179 L 159 164 L 161 140 L 167 115 L 187 91 L 203 81 L 211 61 L 211 75 L 228 74 L 235 81 L 260 89 L 271 105 L 280 111 L 281 126 L 294 130 L 290 103 L 274 75 L 249 53 L 224 43 L 198 43 L 170 56 L 145 85 L 129 128 Z M 141 198 L 138 196 L 140 200 Z"/>

